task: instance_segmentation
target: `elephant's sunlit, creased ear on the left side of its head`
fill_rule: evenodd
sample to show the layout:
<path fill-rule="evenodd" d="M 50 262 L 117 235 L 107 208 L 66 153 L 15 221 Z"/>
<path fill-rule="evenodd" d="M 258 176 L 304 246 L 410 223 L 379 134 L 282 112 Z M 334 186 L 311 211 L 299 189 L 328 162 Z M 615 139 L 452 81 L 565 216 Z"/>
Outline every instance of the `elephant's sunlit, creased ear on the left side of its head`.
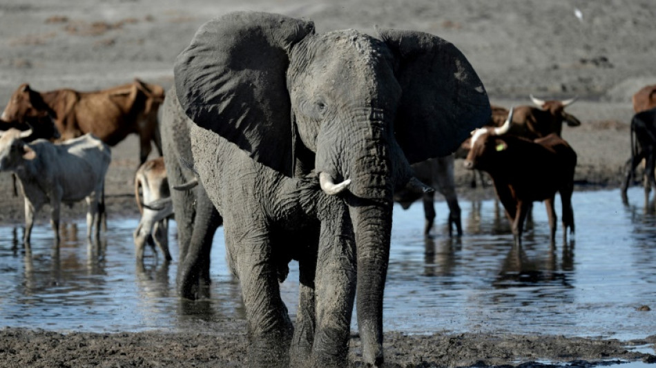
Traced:
<path fill-rule="evenodd" d="M 205 23 L 175 61 L 186 115 L 292 175 L 288 53 L 313 32 L 311 22 L 262 12 L 233 12 Z"/>

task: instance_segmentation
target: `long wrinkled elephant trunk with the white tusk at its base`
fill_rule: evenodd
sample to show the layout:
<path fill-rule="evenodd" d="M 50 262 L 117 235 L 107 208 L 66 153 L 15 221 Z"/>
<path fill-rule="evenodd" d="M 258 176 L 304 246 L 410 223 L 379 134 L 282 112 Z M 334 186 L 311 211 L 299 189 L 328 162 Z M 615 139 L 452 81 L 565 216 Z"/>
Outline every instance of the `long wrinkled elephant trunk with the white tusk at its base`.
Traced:
<path fill-rule="evenodd" d="M 356 244 L 356 305 L 363 358 L 379 366 L 383 364 L 383 291 L 392 232 L 392 195 L 397 184 L 408 182 L 411 171 L 390 129 L 388 119 L 393 112 L 369 108 L 351 116 L 361 119 L 356 119 L 356 129 L 346 135 L 320 131 L 316 170 L 325 193 L 347 193 Z M 336 136 L 347 137 L 347 141 L 330 139 Z"/>

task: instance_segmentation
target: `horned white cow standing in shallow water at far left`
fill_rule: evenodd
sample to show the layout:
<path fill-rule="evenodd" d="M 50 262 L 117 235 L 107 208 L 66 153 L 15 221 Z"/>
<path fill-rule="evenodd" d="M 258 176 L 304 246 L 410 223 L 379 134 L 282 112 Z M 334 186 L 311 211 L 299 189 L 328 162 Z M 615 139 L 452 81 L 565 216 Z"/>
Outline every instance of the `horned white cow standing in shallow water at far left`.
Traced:
<path fill-rule="evenodd" d="M 23 142 L 31 130 L 0 132 L 0 171 L 16 173 L 25 197 L 25 244 L 30 244 L 35 213 L 50 204 L 50 223 L 59 242 L 59 209 L 86 199 L 87 237 L 95 226 L 99 237 L 104 214 L 105 174 L 111 161 L 110 148 L 86 134 L 59 144 L 45 139 Z"/>

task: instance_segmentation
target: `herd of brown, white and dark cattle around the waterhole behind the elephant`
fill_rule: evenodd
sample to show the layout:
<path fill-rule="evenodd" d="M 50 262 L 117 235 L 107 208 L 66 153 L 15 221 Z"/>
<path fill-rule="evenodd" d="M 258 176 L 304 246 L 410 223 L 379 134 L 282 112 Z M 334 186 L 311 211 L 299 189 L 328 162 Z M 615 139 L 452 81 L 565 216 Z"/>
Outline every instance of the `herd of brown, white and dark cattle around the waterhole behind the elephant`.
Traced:
<path fill-rule="evenodd" d="M 465 168 L 488 173 L 496 196 L 510 221 L 514 241 L 521 244 L 523 222 L 532 202 L 544 201 L 552 240 L 557 215 L 554 196 L 562 202 L 563 238 L 574 232 L 571 196 L 577 155 L 561 138 L 562 124 L 579 126 L 579 119 L 566 113 L 575 99 L 543 101 L 530 96 L 536 106 L 514 106 L 510 110 L 492 106 L 488 125 L 472 131 L 459 151 L 446 157 L 414 164 L 421 182 L 445 196 L 450 209 L 449 234 L 462 235 L 461 210 L 456 196 L 454 161 L 464 158 Z M 106 90 L 79 92 L 59 89 L 38 92 L 22 84 L 13 93 L 0 117 L 0 172 L 13 173 L 21 183 L 25 199 L 26 229 L 23 241 L 30 242 L 34 216 L 50 205 L 55 238 L 59 241 L 59 209 L 62 203 L 86 199 L 87 235 L 95 236 L 103 224 L 104 178 L 110 164 L 110 146 L 128 134 L 139 135 L 139 168 L 135 173 L 135 198 L 142 215 L 134 231 L 137 260 L 146 244 L 157 246 L 164 258 L 168 251 L 168 220 L 173 206 L 162 159 L 157 113 L 164 101 L 164 88 L 139 79 Z M 621 194 L 633 180 L 636 166 L 645 162 L 646 200 L 656 186 L 656 85 L 633 95 L 635 115 L 631 121 L 631 157 Z M 151 142 L 160 157 L 146 161 Z M 523 168 L 521 172 L 514 168 Z M 476 175 L 472 181 L 475 185 Z M 184 190 L 184 188 L 176 188 Z M 403 190 L 395 200 L 404 209 L 420 197 L 425 210 L 425 235 L 435 218 L 434 193 Z"/>

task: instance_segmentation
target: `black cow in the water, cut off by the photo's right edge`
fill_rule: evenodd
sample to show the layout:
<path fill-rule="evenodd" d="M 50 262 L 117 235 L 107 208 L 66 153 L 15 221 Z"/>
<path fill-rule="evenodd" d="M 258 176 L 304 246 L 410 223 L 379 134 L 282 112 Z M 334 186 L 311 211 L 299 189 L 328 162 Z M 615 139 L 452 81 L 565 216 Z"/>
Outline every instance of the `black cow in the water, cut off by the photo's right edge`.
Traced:
<path fill-rule="evenodd" d="M 624 203 L 628 203 L 626 191 L 628 185 L 635 175 L 635 166 L 643 159 L 645 160 L 645 170 L 643 175 L 643 184 L 645 190 L 645 204 L 649 200 L 651 186 L 656 186 L 654 177 L 656 166 L 656 107 L 650 110 L 642 111 L 633 115 L 631 119 L 631 157 L 626 162 L 626 177 L 622 182 L 621 196 Z"/>

